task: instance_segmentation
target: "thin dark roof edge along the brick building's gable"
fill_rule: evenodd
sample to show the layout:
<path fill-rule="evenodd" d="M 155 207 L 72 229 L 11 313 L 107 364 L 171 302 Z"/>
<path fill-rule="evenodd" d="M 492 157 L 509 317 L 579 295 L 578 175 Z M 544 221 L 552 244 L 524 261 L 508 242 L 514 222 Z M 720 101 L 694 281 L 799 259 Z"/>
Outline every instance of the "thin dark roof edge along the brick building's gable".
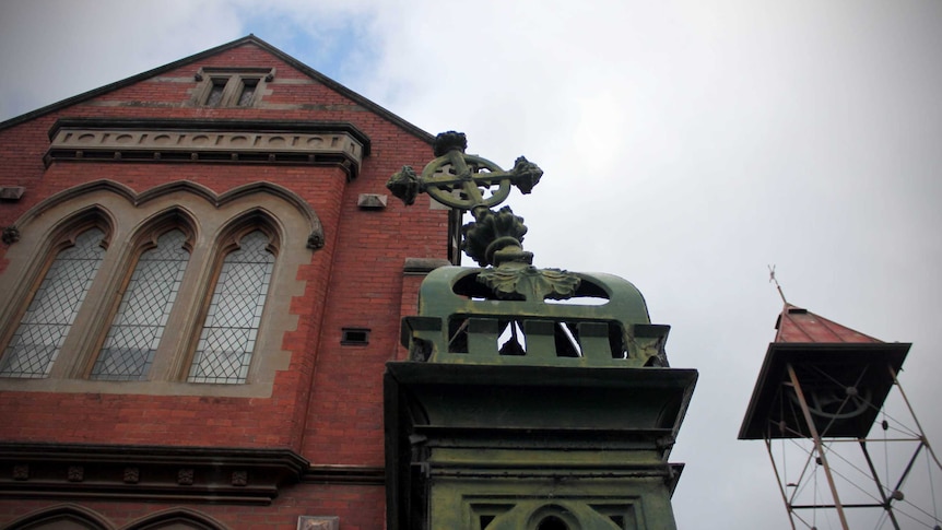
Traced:
<path fill-rule="evenodd" d="M 357 94 L 356 92 L 348 89 L 346 86 L 338 83 L 337 81 L 333 81 L 332 79 L 328 78 L 327 75 L 325 75 L 325 74 L 318 72 L 317 70 L 308 67 L 307 64 L 301 62 L 299 60 L 295 59 L 294 57 L 285 54 L 284 51 L 275 48 L 274 46 L 266 43 L 264 40 L 260 39 L 259 37 L 252 35 L 252 34 L 248 34 L 245 37 L 237 38 L 235 40 L 232 40 L 232 42 L 226 43 L 226 44 L 222 44 L 222 45 L 216 46 L 214 48 L 210 48 L 208 50 L 203 50 L 203 51 L 200 51 L 198 54 L 195 54 L 195 55 L 191 55 L 188 57 L 184 57 L 182 59 L 178 59 L 176 61 L 168 62 L 168 63 L 160 66 L 157 68 L 153 68 L 151 70 L 131 75 L 130 78 L 125 78 L 122 80 L 115 81 L 113 83 L 108 83 L 104 86 L 99 86 L 97 89 L 92 89 L 87 92 L 83 92 L 81 94 L 76 94 L 74 96 L 67 97 L 66 99 L 61 99 L 59 102 L 51 103 L 51 104 L 46 105 L 44 107 L 39 107 L 35 110 L 31 110 L 26 114 L 15 116 L 15 117 L 10 118 L 5 121 L 0 121 L 0 130 L 3 130 L 7 128 L 30 121 L 32 119 L 35 119 L 35 118 L 38 118 L 40 116 L 47 115 L 49 113 L 69 107 L 71 105 L 75 105 L 75 104 L 85 102 L 85 101 L 91 99 L 93 97 L 97 97 L 102 94 L 106 94 L 108 92 L 111 92 L 111 91 L 115 91 L 118 89 L 123 89 L 125 86 L 132 85 L 132 84 L 138 83 L 140 81 L 143 81 L 145 79 L 161 74 L 163 72 L 184 67 L 188 63 L 196 62 L 200 59 L 204 59 L 207 57 L 216 55 L 221 51 L 237 48 L 237 47 L 243 46 L 245 44 L 254 44 L 254 45 L 264 49 L 269 54 L 271 54 L 271 55 L 278 57 L 279 59 L 283 60 L 284 62 L 291 64 L 293 68 L 297 69 L 298 71 L 301 71 L 305 75 L 310 76 L 315 81 L 323 84 L 325 86 L 329 87 L 330 90 L 332 90 L 334 92 L 338 92 L 339 94 L 343 95 L 344 97 L 353 99 L 358 105 L 363 106 L 364 108 L 370 110 L 374 114 L 381 116 L 382 118 L 395 123 L 400 129 L 402 129 L 405 132 L 419 138 L 420 140 L 422 140 L 428 144 L 432 144 L 432 142 L 435 140 L 434 134 L 432 134 L 432 133 L 429 133 L 423 129 L 420 129 L 419 127 L 410 123 L 409 121 L 397 116 L 396 114 L 387 110 L 386 108 L 379 106 L 378 104 L 372 102 L 370 99 L 368 99 L 368 98 Z"/>

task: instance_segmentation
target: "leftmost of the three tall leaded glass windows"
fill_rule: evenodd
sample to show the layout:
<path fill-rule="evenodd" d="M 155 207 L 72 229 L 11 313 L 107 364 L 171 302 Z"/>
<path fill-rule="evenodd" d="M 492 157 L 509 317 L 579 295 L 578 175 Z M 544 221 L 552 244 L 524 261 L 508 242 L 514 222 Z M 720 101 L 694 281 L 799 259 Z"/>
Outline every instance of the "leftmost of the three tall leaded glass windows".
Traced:
<path fill-rule="evenodd" d="M 75 245 L 59 252 L 26 308 L 3 358 L 0 377 L 48 377 L 79 306 L 102 264 L 105 233 L 83 232 Z"/>

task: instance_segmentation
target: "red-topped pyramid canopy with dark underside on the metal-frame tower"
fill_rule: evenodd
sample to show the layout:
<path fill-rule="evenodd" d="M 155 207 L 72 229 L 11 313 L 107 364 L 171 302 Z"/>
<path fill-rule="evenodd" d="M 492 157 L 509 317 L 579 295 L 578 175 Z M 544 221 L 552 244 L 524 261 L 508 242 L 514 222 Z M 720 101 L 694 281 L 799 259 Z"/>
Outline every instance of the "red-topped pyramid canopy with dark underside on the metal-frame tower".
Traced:
<path fill-rule="evenodd" d="M 791 304 L 782 308 L 776 330 L 739 438 L 810 436 L 789 367 L 822 436 L 866 437 L 910 344 L 882 342 Z"/>

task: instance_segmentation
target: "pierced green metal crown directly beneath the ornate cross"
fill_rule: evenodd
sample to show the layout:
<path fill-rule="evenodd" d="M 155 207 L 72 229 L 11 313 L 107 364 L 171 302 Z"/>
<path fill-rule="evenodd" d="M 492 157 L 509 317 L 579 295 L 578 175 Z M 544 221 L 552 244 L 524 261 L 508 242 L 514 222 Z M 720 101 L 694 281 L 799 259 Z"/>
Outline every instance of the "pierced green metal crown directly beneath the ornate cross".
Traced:
<path fill-rule="evenodd" d="M 444 267 L 428 274 L 420 290 L 419 316 L 407 317 L 402 325 L 402 343 L 411 358 L 574 367 L 667 365 L 663 344 L 670 327 L 650 323 L 641 293 L 629 282 L 611 274 L 528 266 L 514 280 L 519 299 L 502 299 L 481 278 L 494 270 L 501 268 Z M 540 284 L 552 283 L 555 276 L 575 280 L 577 287 L 567 296 L 573 303 L 546 303 L 557 292 Z M 502 348 L 498 338 L 507 333 L 510 338 Z"/>

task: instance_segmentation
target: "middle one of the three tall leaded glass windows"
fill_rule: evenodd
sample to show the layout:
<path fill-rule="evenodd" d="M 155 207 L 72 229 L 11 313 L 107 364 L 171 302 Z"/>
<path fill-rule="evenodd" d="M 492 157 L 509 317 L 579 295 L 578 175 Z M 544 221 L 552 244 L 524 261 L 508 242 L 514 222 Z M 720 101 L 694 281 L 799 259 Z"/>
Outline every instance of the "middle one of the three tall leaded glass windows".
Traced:
<path fill-rule="evenodd" d="M 146 377 L 190 259 L 186 240 L 182 232 L 174 229 L 141 255 L 92 368 L 92 379 L 133 381 Z"/>

